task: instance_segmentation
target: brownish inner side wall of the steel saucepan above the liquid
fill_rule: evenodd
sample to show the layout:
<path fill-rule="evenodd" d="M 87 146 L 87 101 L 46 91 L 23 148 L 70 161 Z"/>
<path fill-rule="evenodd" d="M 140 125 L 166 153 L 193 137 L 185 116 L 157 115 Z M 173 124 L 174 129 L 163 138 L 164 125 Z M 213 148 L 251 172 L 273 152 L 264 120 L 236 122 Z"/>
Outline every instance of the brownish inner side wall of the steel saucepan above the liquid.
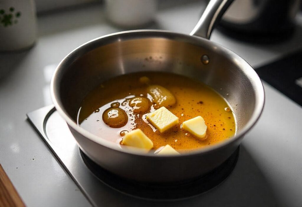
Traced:
<path fill-rule="evenodd" d="M 201 57 L 207 55 L 209 63 Z M 171 40 L 162 37 L 120 40 L 96 45 L 72 61 L 60 77 L 63 109 L 76 121 L 82 99 L 106 79 L 138 71 L 165 71 L 197 79 L 214 88 L 232 106 L 237 131 L 255 108 L 252 82 L 219 48 L 202 41 Z"/>

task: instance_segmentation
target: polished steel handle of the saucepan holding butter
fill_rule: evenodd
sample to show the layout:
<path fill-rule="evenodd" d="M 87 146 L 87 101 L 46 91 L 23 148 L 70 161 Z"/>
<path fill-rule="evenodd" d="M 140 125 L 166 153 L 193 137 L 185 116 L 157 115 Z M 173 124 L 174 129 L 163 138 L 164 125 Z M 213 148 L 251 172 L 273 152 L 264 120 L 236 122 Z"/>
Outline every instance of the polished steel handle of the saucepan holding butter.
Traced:
<path fill-rule="evenodd" d="M 233 0 L 210 0 L 190 35 L 210 39 L 215 24 L 220 20 Z"/>

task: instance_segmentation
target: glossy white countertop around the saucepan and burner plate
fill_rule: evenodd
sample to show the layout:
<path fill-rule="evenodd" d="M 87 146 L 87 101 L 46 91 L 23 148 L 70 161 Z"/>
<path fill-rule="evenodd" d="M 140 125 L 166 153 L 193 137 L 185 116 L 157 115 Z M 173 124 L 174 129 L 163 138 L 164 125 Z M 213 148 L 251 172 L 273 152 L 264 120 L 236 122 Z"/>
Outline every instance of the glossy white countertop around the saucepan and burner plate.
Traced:
<path fill-rule="evenodd" d="M 201 5 L 193 2 L 161 9 L 156 24 L 149 28 L 188 34 L 200 17 Z M 302 25 L 301 17 L 298 21 Z M 0 74 L 1 70 L 8 70 L 0 79 L 0 163 L 27 206 L 89 205 L 25 114 L 51 104 L 50 78 L 67 53 L 88 40 L 116 31 L 120 29 L 105 21 L 102 5 L 94 4 L 39 16 L 39 38 L 31 50 L 0 54 Z M 247 44 L 218 31 L 214 31 L 211 40 L 238 53 L 252 66 L 259 66 L 301 49 L 301 37 L 299 26 L 290 40 L 275 45 Z M 268 84 L 264 83 L 264 88 L 263 115 L 244 138 L 244 153 L 239 156 L 239 162 L 248 161 L 246 164 L 255 170 L 246 172 L 242 184 L 230 182 L 239 176 L 236 171 L 228 181 L 234 188 L 245 188 L 240 186 L 243 183 L 248 185 L 246 188 L 259 188 L 259 195 L 225 193 L 223 184 L 192 205 L 251 205 L 251 199 L 259 198 L 259 205 L 302 206 L 302 108 Z M 227 203 L 219 202 L 220 196 L 229 196 L 224 199 Z M 269 202 L 261 202 L 266 200 Z M 178 204 L 182 202 L 175 206 Z"/>

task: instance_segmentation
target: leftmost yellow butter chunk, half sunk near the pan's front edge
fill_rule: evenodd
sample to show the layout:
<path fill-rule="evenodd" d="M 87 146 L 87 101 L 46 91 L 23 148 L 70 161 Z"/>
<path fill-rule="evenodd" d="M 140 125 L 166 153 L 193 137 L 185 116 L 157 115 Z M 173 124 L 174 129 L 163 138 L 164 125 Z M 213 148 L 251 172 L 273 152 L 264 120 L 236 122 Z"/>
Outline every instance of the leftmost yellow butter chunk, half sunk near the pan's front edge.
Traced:
<path fill-rule="evenodd" d="M 153 148 L 153 142 L 143 133 L 140 129 L 135 129 L 128 132 L 122 140 L 122 144 L 151 150 Z"/>

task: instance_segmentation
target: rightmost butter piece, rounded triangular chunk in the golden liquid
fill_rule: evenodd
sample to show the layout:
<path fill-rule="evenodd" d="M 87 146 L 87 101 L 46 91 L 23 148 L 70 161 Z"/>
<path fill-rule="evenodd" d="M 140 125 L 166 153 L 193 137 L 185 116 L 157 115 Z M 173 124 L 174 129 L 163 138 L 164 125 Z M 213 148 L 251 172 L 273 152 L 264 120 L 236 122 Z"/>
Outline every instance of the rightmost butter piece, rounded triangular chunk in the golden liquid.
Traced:
<path fill-rule="evenodd" d="M 204 123 L 204 119 L 201 116 L 191 118 L 182 123 L 182 128 L 189 131 L 196 137 L 206 138 L 207 135 L 207 125 Z"/>

